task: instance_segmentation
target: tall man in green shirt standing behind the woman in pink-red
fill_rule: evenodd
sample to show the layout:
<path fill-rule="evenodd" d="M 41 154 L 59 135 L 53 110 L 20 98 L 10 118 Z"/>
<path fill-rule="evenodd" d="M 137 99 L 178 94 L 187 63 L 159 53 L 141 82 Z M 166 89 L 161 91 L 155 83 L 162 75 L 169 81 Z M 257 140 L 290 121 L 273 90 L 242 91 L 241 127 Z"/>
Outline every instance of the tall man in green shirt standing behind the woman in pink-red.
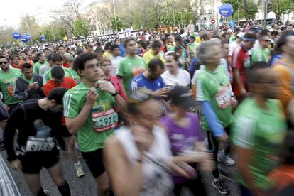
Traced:
<path fill-rule="evenodd" d="M 146 70 L 146 64 L 143 58 L 136 55 L 136 41 L 133 38 L 127 39 L 124 44 L 128 55 L 121 60 L 118 76 L 121 78 L 121 83 L 129 96 L 131 93 L 131 80 Z"/>

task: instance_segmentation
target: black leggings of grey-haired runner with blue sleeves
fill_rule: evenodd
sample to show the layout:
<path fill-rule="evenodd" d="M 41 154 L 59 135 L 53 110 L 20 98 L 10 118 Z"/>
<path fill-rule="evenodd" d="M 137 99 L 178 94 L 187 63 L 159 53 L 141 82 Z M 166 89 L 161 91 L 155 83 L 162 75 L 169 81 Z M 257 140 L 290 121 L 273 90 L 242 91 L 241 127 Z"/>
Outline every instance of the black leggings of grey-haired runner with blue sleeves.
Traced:
<path fill-rule="evenodd" d="M 224 129 L 227 134 L 229 135 L 229 126 L 227 126 L 226 129 Z M 214 163 L 215 163 L 215 168 L 212 170 L 212 175 L 214 178 L 219 178 L 219 168 L 218 168 L 218 163 L 217 163 L 217 153 L 219 152 L 219 142 L 217 141 L 217 138 L 212 134 L 212 131 L 206 131 L 207 132 L 207 141 L 208 141 L 208 149 L 213 153 L 214 156 Z M 229 145 L 225 149 L 226 154 L 229 153 Z"/>

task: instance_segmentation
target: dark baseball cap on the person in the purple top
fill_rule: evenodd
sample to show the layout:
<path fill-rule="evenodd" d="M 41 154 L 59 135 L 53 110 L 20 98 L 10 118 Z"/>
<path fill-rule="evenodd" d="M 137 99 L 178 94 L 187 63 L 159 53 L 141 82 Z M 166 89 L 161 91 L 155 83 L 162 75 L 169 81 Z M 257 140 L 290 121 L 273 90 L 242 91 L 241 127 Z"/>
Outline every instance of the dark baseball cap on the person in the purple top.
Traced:
<path fill-rule="evenodd" d="M 170 104 L 175 104 L 183 109 L 196 107 L 192 93 L 189 93 L 186 87 L 176 85 L 173 89 L 170 89 L 168 97 L 170 97 Z"/>

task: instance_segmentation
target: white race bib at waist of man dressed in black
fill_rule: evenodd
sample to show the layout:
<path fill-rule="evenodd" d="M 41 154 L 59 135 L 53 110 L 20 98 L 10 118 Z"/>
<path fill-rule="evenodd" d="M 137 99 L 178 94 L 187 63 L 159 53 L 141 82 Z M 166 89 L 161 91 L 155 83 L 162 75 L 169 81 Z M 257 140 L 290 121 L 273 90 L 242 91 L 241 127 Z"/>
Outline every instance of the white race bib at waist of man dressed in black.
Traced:
<path fill-rule="evenodd" d="M 55 138 L 37 138 L 29 136 L 26 142 L 26 152 L 52 151 L 55 148 Z"/>

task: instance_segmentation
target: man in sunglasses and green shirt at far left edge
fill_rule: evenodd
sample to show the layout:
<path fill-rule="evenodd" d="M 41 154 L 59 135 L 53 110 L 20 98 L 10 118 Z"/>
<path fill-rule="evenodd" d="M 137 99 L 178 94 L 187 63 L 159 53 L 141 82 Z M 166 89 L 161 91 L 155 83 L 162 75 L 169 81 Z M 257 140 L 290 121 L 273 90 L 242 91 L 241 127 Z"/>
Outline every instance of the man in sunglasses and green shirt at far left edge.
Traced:
<path fill-rule="evenodd" d="M 11 112 L 19 102 L 19 99 L 13 97 L 15 82 L 21 76 L 21 70 L 9 66 L 9 59 L 5 56 L 0 56 L 0 89 L 3 94 L 6 108 Z"/>

